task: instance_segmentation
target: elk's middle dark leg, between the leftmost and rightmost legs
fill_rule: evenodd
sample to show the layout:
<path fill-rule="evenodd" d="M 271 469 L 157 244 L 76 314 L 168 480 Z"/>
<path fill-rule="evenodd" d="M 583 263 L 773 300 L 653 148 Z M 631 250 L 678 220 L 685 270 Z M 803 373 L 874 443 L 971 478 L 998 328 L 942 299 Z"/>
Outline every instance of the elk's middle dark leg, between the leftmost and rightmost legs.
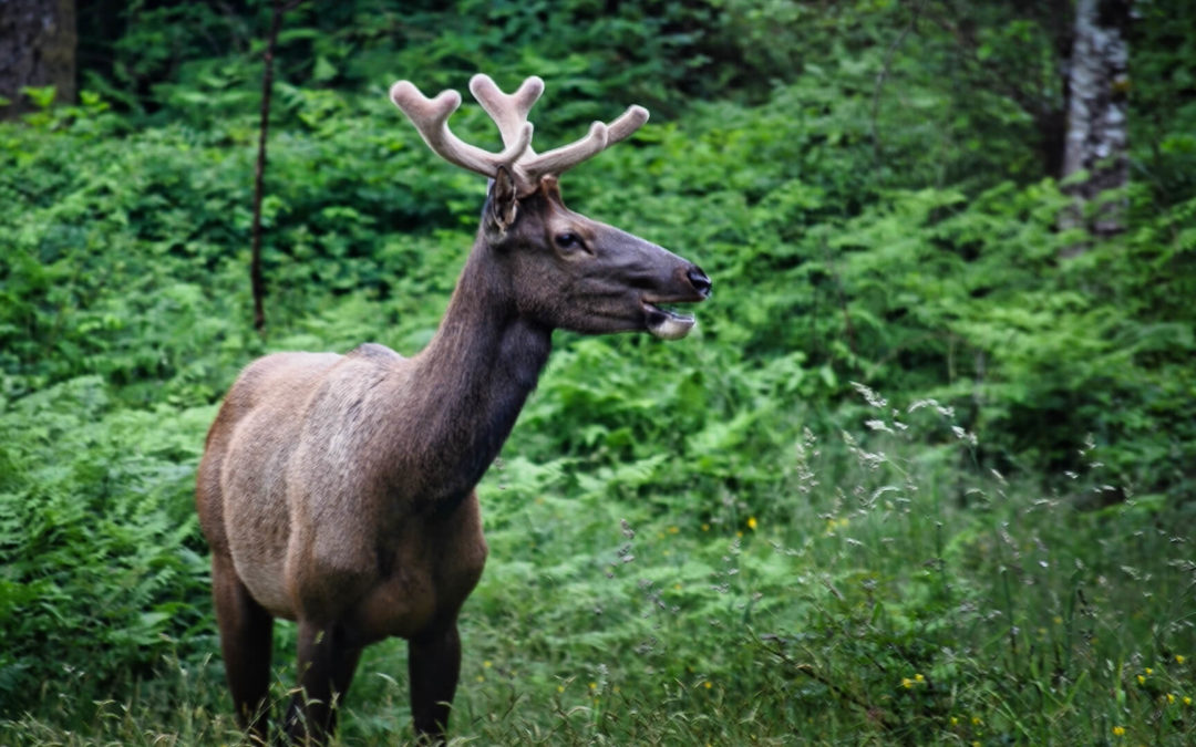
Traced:
<path fill-rule="evenodd" d="M 336 729 L 336 710 L 344 700 L 361 657 L 341 625 L 299 620 L 300 691 L 287 709 L 292 743 L 323 745 Z"/>

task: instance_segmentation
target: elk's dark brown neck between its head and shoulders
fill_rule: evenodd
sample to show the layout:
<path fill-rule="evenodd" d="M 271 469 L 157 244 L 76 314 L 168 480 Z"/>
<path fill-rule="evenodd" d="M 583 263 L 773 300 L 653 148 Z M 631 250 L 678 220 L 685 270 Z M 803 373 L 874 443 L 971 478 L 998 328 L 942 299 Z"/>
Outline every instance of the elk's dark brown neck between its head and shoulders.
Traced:
<path fill-rule="evenodd" d="M 426 495 L 451 509 L 481 480 L 511 434 L 551 351 L 551 329 L 519 316 L 508 280 L 480 237 L 428 347 L 411 361 Z M 413 392 L 415 394 L 415 392 Z"/>

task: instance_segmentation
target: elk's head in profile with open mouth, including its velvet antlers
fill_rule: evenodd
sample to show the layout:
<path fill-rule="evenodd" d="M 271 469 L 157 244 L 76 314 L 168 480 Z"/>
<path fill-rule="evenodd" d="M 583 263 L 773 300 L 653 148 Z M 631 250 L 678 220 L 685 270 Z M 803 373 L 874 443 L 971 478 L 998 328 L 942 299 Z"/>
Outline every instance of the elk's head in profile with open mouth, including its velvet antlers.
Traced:
<path fill-rule="evenodd" d="M 390 98 L 437 154 L 490 179 L 475 256 L 484 255 L 493 268 L 489 282 L 501 286 L 496 292 L 511 311 L 548 329 L 642 330 L 664 339 L 688 335 L 694 317 L 669 305 L 706 299 L 706 274 L 655 244 L 574 213 L 559 188 L 565 171 L 647 122 L 647 110 L 630 106 L 610 124 L 594 122 L 585 137 L 537 154 L 527 112 L 544 91 L 539 78 L 526 79 L 512 94 L 481 74 L 469 87 L 499 127 L 499 153 L 463 142 L 448 129 L 450 115 L 460 106 L 456 91 L 429 99 L 404 80 L 391 87 Z"/>

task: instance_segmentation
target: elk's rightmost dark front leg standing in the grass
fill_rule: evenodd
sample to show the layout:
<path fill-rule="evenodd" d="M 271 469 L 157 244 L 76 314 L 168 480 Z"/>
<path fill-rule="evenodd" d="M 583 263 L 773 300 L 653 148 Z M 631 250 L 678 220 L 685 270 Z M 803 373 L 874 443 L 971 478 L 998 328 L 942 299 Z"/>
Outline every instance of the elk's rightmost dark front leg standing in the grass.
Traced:
<path fill-rule="evenodd" d="M 444 742 L 448 711 L 460 674 L 460 636 L 457 620 L 411 638 L 407 645 L 411 680 L 411 718 L 416 739 Z"/>

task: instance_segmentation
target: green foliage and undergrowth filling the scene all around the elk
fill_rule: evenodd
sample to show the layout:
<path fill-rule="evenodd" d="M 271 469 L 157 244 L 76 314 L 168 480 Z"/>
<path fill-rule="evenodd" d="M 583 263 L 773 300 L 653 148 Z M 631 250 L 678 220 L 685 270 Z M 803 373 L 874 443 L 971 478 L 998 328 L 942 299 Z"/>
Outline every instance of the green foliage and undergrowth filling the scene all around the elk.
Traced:
<path fill-rule="evenodd" d="M 160 722 L 175 688 L 216 666 L 190 498 L 205 429 L 262 353 L 427 343 L 484 185 L 431 155 L 385 91 L 399 78 L 464 91 L 478 71 L 507 90 L 545 79 L 541 148 L 647 105 L 651 123 L 569 173 L 566 197 L 696 261 L 715 295 L 682 343 L 557 333 L 481 488 L 493 582 L 465 612 L 466 648 L 511 659 L 512 681 L 520 671 L 551 686 L 537 699 L 508 682 L 523 705 L 505 711 L 506 691 L 463 694 L 465 731 L 585 742 L 615 714 L 616 741 L 734 743 L 781 739 L 831 702 L 829 741 L 856 741 L 861 724 L 908 739 L 930 723 L 944 741 L 1052 734 L 1014 717 L 1026 709 L 1081 741 L 1131 715 L 1170 724 L 1142 734 L 1190 737 L 1190 711 L 1160 715 L 1161 696 L 1133 678 L 1196 656 L 1182 612 L 1196 7 L 1135 4 L 1129 219 L 1088 240 L 1058 228 L 1070 6 L 304 2 L 276 54 L 258 336 L 249 206 L 269 4 L 80 0 L 79 100 L 31 91 L 41 106 L 0 123 L 0 717 L 12 739 L 124 728 L 134 706 Z M 453 127 L 498 142 L 472 104 Z M 920 412 L 902 421 L 939 415 L 910 428 L 898 406 Z M 639 551 L 654 559 L 627 565 L 631 525 L 651 527 L 636 541 L 654 537 Z M 1136 539 L 1102 544 L 1112 537 Z M 828 545 L 847 540 L 874 552 L 855 563 L 855 545 Z M 1075 570 L 1035 576 L 1027 547 L 1048 545 Z M 1008 583 L 1023 563 L 1015 582 L 1045 590 L 1026 592 L 1019 617 Z M 1109 586 L 1118 567 L 1139 576 Z M 1139 598 L 1143 578 L 1163 584 L 1147 584 L 1153 601 Z M 530 610 L 512 600 L 520 586 L 537 595 Z M 1082 617 L 1102 602 L 1110 620 L 1141 604 L 1160 612 Z M 1017 636 L 1055 619 L 1044 630 L 1066 623 L 1066 635 L 1019 655 Z M 987 644 L 969 638 L 977 630 Z M 1007 661 L 984 648 L 1006 638 Z M 608 661 L 629 641 L 641 660 Z M 386 662 L 402 649 L 382 651 L 377 666 L 399 672 Z M 1054 706 L 1008 694 L 1039 665 Z M 919 667 L 942 684 L 903 687 L 895 673 Z M 478 672 L 496 679 L 490 660 Z M 228 711 L 210 679 L 196 709 Z M 722 731 L 700 720 L 652 731 L 661 724 L 637 721 L 647 700 L 630 693 L 660 681 L 661 708 L 690 717 L 739 714 L 737 692 L 783 703 L 761 723 L 728 715 L 739 725 Z M 580 717 L 561 705 L 569 688 Z M 359 714 L 347 739 L 403 734 L 403 688 L 360 691 L 399 714 Z M 1076 711 L 1081 692 L 1099 712 Z M 487 730 L 494 711 L 507 731 Z M 227 739 L 172 723 L 155 728 Z"/>

